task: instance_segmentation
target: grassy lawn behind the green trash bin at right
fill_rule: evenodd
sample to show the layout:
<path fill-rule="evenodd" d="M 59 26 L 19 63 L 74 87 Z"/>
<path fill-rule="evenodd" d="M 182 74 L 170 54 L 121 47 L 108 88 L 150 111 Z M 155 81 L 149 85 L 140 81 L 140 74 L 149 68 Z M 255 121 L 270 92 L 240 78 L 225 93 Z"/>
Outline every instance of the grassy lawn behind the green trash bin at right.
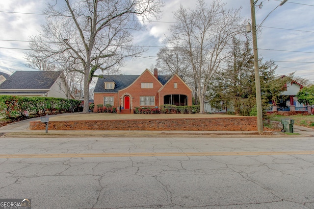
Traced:
<path fill-rule="evenodd" d="M 309 128 L 314 128 L 314 115 L 303 116 L 303 115 L 294 115 L 294 116 L 280 116 L 272 114 L 269 116 L 270 120 L 280 121 L 281 119 L 292 119 L 294 120 L 295 125 L 305 126 Z"/>

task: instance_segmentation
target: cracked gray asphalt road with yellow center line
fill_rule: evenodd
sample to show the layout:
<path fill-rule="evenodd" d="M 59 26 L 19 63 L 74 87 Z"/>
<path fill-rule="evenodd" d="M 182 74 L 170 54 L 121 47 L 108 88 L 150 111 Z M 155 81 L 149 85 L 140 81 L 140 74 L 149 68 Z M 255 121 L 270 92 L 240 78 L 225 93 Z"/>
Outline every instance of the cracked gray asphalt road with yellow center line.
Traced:
<path fill-rule="evenodd" d="M 314 138 L 1 138 L 32 209 L 314 209 Z"/>

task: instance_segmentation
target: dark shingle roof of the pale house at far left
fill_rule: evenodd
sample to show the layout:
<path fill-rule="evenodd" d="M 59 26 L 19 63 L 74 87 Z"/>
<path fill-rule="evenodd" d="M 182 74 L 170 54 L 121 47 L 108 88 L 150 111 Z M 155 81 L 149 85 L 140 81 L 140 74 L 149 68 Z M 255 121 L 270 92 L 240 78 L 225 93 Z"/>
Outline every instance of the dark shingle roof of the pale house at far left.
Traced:
<path fill-rule="evenodd" d="M 61 71 L 16 71 L 0 85 L 0 90 L 48 90 L 61 73 Z"/>

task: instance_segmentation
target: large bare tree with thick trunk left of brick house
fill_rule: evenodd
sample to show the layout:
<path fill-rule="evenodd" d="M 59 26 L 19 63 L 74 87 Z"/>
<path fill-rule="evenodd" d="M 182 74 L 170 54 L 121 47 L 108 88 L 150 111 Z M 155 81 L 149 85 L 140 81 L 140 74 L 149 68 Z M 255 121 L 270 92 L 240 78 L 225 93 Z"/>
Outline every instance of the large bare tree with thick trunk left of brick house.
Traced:
<path fill-rule="evenodd" d="M 31 38 L 30 48 L 42 59 L 66 61 L 84 74 L 84 104 L 96 70 L 117 73 L 125 58 L 145 51 L 132 46 L 131 31 L 143 28 L 140 20 L 158 18 L 163 6 L 161 0 L 64 0 L 61 7 L 55 2 L 44 11 L 46 24 Z"/>

